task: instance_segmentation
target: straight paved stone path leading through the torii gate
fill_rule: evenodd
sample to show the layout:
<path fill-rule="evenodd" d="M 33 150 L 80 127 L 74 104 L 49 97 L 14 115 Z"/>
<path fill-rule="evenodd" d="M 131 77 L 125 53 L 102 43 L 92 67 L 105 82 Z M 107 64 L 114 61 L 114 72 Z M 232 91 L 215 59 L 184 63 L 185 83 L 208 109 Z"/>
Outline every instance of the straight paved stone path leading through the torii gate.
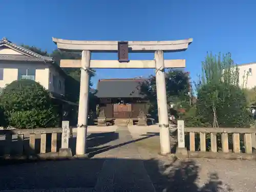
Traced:
<path fill-rule="evenodd" d="M 127 127 L 119 127 L 117 132 L 119 139 L 113 141 L 112 145 L 133 140 Z M 135 143 L 118 146 L 100 156 L 114 159 L 104 162 L 96 191 L 155 191 Z"/>

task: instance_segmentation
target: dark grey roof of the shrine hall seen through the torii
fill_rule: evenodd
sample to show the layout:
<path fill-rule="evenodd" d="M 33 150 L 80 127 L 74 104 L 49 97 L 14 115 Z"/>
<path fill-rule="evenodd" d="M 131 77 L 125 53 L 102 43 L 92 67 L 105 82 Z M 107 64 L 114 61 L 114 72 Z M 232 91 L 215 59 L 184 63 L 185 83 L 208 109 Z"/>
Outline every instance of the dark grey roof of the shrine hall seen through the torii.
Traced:
<path fill-rule="evenodd" d="M 145 79 L 100 79 L 97 85 L 98 98 L 143 98 L 141 83 Z"/>

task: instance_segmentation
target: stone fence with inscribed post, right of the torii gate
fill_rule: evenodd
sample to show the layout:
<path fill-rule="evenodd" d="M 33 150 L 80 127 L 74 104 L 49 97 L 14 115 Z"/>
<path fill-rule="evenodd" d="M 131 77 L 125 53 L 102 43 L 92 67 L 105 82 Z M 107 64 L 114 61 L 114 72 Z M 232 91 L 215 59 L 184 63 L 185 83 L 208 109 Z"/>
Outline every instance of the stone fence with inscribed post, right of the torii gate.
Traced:
<path fill-rule="evenodd" d="M 178 120 L 177 132 L 178 156 L 256 159 L 256 129 L 184 127 Z"/>

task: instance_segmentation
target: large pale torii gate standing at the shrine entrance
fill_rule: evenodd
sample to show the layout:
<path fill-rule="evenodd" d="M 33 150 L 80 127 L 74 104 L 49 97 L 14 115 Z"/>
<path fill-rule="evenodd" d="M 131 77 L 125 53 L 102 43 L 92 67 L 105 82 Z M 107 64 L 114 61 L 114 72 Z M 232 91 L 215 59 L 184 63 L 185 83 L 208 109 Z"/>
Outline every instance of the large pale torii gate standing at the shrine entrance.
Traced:
<path fill-rule="evenodd" d="M 170 153 L 169 120 L 166 101 L 164 68 L 184 68 L 185 60 L 164 60 L 164 52 L 185 51 L 192 38 L 173 41 L 128 41 L 126 52 L 155 53 L 155 60 L 91 60 L 91 52 L 114 52 L 119 50 L 118 41 L 65 40 L 52 38 L 62 51 L 82 52 L 81 60 L 61 59 L 60 67 L 81 68 L 80 97 L 78 109 L 76 155 L 86 154 L 86 136 L 88 126 L 88 96 L 90 68 L 105 69 L 156 69 L 157 105 L 160 128 L 161 154 Z M 124 46 L 125 49 L 125 46 Z M 125 51 L 124 51 L 125 52 Z M 125 55 L 123 55 L 125 57 Z M 127 59 L 126 55 L 126 59 Z M 124 88 L 125 89 L 125 88 Z"/>

